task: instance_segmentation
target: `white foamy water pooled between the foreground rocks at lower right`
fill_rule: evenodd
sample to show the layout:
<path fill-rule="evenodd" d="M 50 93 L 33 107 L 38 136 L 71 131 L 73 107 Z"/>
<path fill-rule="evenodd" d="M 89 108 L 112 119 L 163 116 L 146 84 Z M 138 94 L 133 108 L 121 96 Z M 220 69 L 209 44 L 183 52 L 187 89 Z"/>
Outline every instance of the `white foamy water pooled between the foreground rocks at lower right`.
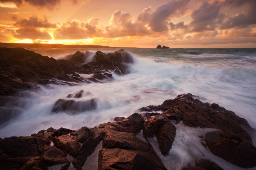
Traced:
<path fill-rule="evenodd" d="M 168 170 L 180 170 L 187 166 L 195 165 L 195 162 L 202 158 L 215 162 L 224 170 L 253 170 L 254 168 L 240 168 L 220 157 L 212 154 L 205 146 L 200 136 L 216 129 L 211 128 L 191 128 L 183 125 L 182 122 L 175 125 L 176 136 L 171 150 L 167 156 L 161 154 L 156 137 L 148 138 L 148 141 L 160 157 L 161 161 Z"/>

